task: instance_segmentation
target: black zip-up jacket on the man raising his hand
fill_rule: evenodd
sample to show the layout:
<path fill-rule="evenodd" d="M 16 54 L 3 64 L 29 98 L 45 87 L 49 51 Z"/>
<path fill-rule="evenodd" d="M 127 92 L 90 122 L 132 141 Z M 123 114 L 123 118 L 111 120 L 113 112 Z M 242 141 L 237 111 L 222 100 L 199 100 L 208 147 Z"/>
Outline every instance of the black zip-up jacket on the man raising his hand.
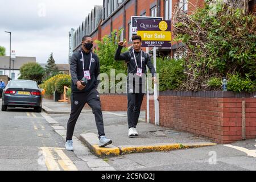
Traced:
<path fill-rule="evenodd" d="M 133 48 L 131 48 L 129 51 L 126 51 L 124 53 L 121 53 L 122 51 L 122 46 L 118 46 L 117 51 L 115 52 L 115 57 L 114 59 L 116 61 L 121 61 L 121 60 L 125 60 L 127 63 L 127 72 L 128 75 L 130 73 L 136 74 L 137 73 L 137 66 L 134 60 L 134 55 L 133 55 Z M 137 64 L 138 67 L 141 68 L 141 52 L 136 52 L 134 51 L 136 59 L 137 59 Z M 148 55 L 148 53 L 142 51 L 142 73 L 147 73 L 147 67 L 150 69 L 150 72 L 152 74 L 152 76 L 155 76 L 156 71 L 154 68 L 154 65 L 151 62 L 150 56 Z"/>

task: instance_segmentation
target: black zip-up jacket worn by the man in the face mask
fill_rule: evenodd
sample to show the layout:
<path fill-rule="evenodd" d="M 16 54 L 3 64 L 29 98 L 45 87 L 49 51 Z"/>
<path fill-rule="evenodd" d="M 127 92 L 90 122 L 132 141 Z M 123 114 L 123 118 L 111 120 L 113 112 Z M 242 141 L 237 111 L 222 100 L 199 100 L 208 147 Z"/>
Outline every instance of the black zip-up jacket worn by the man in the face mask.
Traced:
<path fill-rule="evenodd" d="M 90 52 L 85 53 L 81 49 L 80 51 L 73 53 L 70 63 L 70 72 L 72 77 L 71 89 L 72 92 L 75 93 L 90 92 L 90 90 L 92 90 L 93 88 L 97 88 L 98 84 L 100 83 L 100 81 L 97 80 L 98 75 L 100 75 L 100 60 L 98 59 L 98 56 L 96 54 L 92 53 L 93 59 L 92 65 L 90 67 L 91 80 L 88 80 L 88 84 L 86 84 L 84 90 L 77 89 L 76 82 L 82 80 L 82 78 L 84 77 L 81 52 L 84 55 L 84 71 L 88 71 L 90 65 Z"/>

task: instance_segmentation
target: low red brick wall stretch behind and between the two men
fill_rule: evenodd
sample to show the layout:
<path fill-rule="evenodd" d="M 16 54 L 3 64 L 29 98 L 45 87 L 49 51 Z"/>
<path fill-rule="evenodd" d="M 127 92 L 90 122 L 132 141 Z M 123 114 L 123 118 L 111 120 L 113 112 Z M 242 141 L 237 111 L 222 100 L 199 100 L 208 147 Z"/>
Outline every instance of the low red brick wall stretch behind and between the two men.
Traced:
<path fill-rule="evenodd" d="M 102 94 L 101 109 L 104 111 L 127 111 L 127 96 L 118 94 Z M 146 110 L 146 97 L 144 97 L 141 110 Z"/>

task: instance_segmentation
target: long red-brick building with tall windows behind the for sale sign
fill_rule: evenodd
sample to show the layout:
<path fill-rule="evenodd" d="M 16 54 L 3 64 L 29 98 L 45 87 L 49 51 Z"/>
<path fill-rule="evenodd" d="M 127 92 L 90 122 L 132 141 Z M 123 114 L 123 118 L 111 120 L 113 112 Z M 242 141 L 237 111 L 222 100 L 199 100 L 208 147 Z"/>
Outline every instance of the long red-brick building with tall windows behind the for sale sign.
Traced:
<path fill-rule="evenodd" d="M 73 34 L 73 51 L 79 50 L 84 35 L 92 36 L 93 40 L 101 40 L 105 35 L 110 36 L 113 30 L 123 28 L 122 37 L 131 46 L 131 16 L 160 16 L 164 20 L 172 20 L 175 5 L 179 5 L 188 14 L 196 7 L 204 5 L 205 0 L 102 0 L 103 6 L 95 6 L 92 13 L 85 19 L 85 26 L 77 28 Z M 188 3 L 189 2 L 189 3 Z M 97 9 L 96 9 L 97 7 Z M 101 8 L 101 10 L 100 10 Z M 256 0 L 250 0 L 249 10 L 256 12 Z M 94 14 L 93 14 L 94 13 Z M 99 16 L 102 14 L 101 19 Z M 94 17 L 97 17 L 95 20 Z M 93 25 L 93 27 L 91 26 Z M 94 46 L 97 45 L 94 44 Z M 175 57 L 177 43 L 171 48 L 158 49 L 159 55 Z"/>

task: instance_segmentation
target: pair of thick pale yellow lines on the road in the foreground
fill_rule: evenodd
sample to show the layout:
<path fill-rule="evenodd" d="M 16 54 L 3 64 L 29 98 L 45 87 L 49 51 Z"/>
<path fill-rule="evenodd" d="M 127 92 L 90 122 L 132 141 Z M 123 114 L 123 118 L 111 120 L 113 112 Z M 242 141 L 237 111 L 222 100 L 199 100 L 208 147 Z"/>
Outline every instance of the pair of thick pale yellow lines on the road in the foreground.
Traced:
<path fill-rule="evenodd" d="M 75 164 L 63 152 L 63 148 L 41 147 L 40 149 L 42 150 L 46 167 L 49 171 L 60 171 L 60 167 L 64 171 L 78 171 Z M 57 158 L 53 156 L 53 153 L 58 155 Z"/>

